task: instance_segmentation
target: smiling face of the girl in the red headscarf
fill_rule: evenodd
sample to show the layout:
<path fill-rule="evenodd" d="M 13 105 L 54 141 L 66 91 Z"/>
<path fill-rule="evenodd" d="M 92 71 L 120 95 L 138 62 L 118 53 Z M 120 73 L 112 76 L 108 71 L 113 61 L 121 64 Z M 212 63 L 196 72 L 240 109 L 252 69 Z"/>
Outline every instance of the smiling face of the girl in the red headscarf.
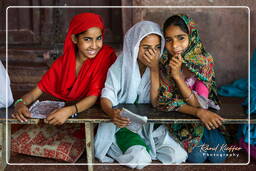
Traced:
<path fill-rule="evenodd" d="M 82 60 L 94 58 L 103 46 L 102 31 L 98 27 L 92 27 L 75 37 L 73 43 L 77 45 L 78 57 Z"/>

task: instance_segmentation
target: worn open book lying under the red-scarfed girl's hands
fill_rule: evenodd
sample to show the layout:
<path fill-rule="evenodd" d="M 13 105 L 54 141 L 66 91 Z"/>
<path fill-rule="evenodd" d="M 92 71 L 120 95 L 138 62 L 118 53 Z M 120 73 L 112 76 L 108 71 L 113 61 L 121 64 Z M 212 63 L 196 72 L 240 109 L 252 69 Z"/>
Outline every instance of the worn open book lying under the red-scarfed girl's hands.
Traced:
<path fill-rule="evenodd" d="M 60 109 L 65 106 L 65 102 L 60 101 L 35 101 L 29 108 L 32 114 L 32 118 L 44 119 L 54 111 L 55 109 Z"/>

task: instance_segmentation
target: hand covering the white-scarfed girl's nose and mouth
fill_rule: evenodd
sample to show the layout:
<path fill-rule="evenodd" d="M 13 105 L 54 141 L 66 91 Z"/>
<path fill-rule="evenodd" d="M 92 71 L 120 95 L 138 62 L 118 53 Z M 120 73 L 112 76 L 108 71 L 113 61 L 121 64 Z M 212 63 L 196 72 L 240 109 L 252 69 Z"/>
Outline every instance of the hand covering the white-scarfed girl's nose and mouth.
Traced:
<path fill-rule="evenodd" d="M 148 49 L 147 51 L 145 51 L 144 55 L 142 56 L 142 60 L 143 60 L 143 63 L 147 65 L 150 69 L 158 70 L 159 57 L 160 57 L 159 51 Z"/>

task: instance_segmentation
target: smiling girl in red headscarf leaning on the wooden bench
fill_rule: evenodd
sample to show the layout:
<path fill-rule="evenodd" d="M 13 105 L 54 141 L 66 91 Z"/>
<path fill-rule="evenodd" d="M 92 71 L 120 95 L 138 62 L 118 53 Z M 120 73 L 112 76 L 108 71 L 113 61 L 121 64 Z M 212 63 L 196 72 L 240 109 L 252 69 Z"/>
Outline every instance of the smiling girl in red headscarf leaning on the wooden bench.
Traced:
<path fill-rule="evenodd" d="M 44 121 L 50 125 L 62 125 L 71 115 L 93 106 L 100 96 L 108 68 L 116 59 L 114 50 L 103 45 L 103 37 L 104 25 L 99 15 L 76 15 L 69 26 L 63 56 L 53 63 L 32 91 L 16 101 L 12 116 L 26 122 L 31 117 L 27 105 L 43 93 L 64 101 L 77 101 L 48 115 Z"/>

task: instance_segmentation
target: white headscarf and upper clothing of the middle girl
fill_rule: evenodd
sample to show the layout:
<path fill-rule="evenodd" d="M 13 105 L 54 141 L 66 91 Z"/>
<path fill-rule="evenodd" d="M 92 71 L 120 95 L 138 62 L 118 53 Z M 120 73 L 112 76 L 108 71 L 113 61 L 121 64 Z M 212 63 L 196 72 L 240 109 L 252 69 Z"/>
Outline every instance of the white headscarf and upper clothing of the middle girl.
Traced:
<path fill-rule="evenodd" d="M 158 24 L 141 21 L 125 34 L 123 51 L 110 67 L 101 95 L 109 99 L 113 106 L 119 103 L 134 103 L 137 95 L 138 103 L 150 102 L 150 69 L 147 67 L 141 77 L 137 62 L 140 42 L 150 34 L 161 37 L 162 54 L 165 42 Z"/>

